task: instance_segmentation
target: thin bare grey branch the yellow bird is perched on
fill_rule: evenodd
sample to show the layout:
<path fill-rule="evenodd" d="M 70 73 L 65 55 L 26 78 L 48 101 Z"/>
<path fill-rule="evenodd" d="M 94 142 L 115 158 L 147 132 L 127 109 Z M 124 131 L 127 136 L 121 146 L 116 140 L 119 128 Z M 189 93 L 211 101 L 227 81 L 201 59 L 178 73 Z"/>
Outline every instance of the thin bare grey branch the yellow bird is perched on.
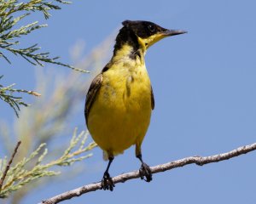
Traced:
<path fill-rule="evenodd" d="M 151 168 L 152 173 L 160 173 L 160 172 L 165 172 L 167 170 L 171 170 L 172 168 L 183 167 L 185 165 L 192 164 L 192 163 L 195 163 L 199 166 L 203 166 L 207 163 L 224 161 L 224 160 L 233 158 L 235 156 L 241 156 L 242 154 L 246 154 L 253 150 L 256 150 L 256 143 L 248 144 L 246 146 L 241 146 L 241 147 L 237 148 L 236 150 L 231 150 L 229 152 L 225 152 L 225 153 L 214 155 L 214 156 L 189 156 L 189 157 L 177 160 L 177 161 L 167 162 L 165 164 L 160 164 L 160 165 L 150 167 L 150 168 Z M 131 173 L 123 173 L 119 176 L 113 177 L 113 183 L 114 184 L 125 183 L 126 180 L 130 180 L 133 178 L 140 178 L 138 171 L 134 171 Z M 101 189 L 101 182 L 98 182 L 95 184 L 84 185 L 77 189 L 64 192 L 60 195 L 55 195 L 54 197 L 49 198 L 48 200 L 42 201 L 41 204 L 59 203 L 61 201 L 71 199 L 75 196 L 80 196 L 80 195 L 83 195 L 90 191 L 95 191 L 95 190 L 100 190 L 100 189 Z"/>

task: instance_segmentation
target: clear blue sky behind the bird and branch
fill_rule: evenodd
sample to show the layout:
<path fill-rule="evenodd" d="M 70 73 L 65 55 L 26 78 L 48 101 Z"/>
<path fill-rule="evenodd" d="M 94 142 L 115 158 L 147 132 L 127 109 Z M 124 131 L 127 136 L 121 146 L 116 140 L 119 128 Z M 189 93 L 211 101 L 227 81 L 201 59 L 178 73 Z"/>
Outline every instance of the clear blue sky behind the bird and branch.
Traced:
<path fill-rule="evenodd" d="M 49 27 L 33 40 L 71 63 L 69 50 L 75 42 L 84 40 L 86 54 L 118 29 L 123 20 L 150 20 L 169 29 L 188 31 L 186 35 L 158 42 L 146 55 L 155 109 L 143 142 L 143 157 L 154 166 L 185 156 L 210 156 L 255 142 L 255 7 L 253 0 L 74 1 L 52 13 L 53 17 L 47 20 Z M 41 22 L 44 23 L 42 18 Z M 15 68 L 3 60 L 0 63 L 7 84 L 34 87 L 36 67 L 22 59 L 13 64 Z M 50 69 L 67 68 L 51 65 Z M 1 106 L 1 118 L 16 120 L 6 105 Z M 73 121 L 80 127 L 84 124 L 83 108 L 81 105 L 79 120 Z M 63 203 L 253 204 L 255 156 L 253 152 L 204 167 L 189 165 L 154 174 L 149 184 L 131 180 L 117 184 L 113 192 L 97 190 Z M 88 170 L 72 181 L 55 182 L 27 197 L 24 203 L 37 203 L 100 180 L 107 163 L 97 149 L 90 165 L 98 163 L 100 171 Z M 115 159 L 110 173 L 115 176 L 138 167 L 132 147 Z"/>

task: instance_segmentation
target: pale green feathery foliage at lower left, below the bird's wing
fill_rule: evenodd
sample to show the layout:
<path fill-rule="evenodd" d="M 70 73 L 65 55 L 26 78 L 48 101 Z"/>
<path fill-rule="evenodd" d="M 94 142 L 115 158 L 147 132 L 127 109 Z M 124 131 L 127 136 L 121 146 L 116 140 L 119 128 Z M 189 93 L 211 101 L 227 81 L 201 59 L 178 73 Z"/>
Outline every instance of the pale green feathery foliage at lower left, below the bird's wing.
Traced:
<path fill-rule="evenodd" d="M 77 135 L 77 128 L 73 132 L 73 138 L 70 141 L 67 150 L 65 150 L 59 158 L 43 163 L 44 157 L 47 155 L 48 150 L 45 144 L 40 144 L 37 150 L 34 150 L 30 156 L 24 157 L 16 163 L 14 167 L 9 169 L 7 177 L 3 183 L 2 190 L 0 190 L 0 198 L 5 198 L 15 190 L 19 190 L 24 185 L 32 181 L 42 178 L 50 177 L 59 174 L 60 172 L 50 170 L 55 166 L 69 166 L 76 161 L 82 161 L 90 156 L 91 153 L 83 156 L 84 152 L 92 150 L 96 144 L 94 142 L 84 146 L 88 132 L 82 131 Z M 22 145 L 22 144 L 21 144 Z M 44 150 L 43 150 L 44 149 Z M 0 178 L 7 165 L 7 159 L 0 159 Z"/>

